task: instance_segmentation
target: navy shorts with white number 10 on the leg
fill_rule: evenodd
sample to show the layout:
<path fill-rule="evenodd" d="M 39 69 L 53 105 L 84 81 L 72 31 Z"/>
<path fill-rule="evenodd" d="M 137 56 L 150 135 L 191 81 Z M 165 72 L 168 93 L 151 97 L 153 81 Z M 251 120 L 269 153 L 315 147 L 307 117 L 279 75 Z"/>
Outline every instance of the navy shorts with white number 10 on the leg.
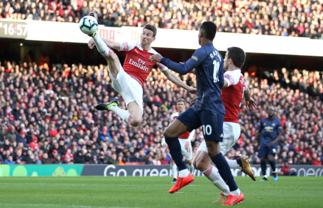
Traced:
<path fill-rule="evenodd" d="M 185 124 L 189 131 L 202 126 L 204 139 L 207 141 L 223 140 L 223 114 L 209 110 L 194 111 L 189 108 L 176 119 Z"/>

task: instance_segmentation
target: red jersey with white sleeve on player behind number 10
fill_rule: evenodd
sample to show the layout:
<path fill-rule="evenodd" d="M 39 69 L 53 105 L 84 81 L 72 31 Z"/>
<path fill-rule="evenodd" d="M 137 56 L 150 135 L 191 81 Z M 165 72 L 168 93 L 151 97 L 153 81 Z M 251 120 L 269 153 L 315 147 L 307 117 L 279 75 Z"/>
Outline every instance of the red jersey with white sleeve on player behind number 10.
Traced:
<path fill-rule="evenodd" d="M 228 87 L 221 89 L 221 98 L 226 108 L 223 121 L 239 124 L 238 115 L 246 83 L 240 69 L 226 71 L 224 79 L 228 82 Z"/>

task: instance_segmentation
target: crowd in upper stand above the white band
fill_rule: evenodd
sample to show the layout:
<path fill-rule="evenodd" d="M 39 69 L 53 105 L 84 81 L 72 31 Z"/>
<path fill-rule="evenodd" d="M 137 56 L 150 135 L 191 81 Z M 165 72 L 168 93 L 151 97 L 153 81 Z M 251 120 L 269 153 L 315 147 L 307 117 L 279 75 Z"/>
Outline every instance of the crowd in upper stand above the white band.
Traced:
<path fill-rule="evenodd" d="M 211 20 L 220 32 L 322 39 L 322 0 L 1 0 L 0 18 L 197 30 Z"/>

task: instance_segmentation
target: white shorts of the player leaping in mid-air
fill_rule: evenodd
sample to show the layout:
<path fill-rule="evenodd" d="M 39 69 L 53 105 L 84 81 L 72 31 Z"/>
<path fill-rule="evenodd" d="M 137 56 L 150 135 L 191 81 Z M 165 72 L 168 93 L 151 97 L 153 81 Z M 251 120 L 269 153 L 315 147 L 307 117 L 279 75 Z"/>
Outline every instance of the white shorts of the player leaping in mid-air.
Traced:
<path fill-rule="evenodd" d="M 112 80 L 112 86 L 115 91 L 117 91 L 123 99 L 126 101 L 126 106 L 132 101 L 136 101 L 144 112 L 143 107 L 143 87 L 134 78 L 132 78 L 128 73 L 124 71 L 120 64 L 120 71 L 117 74 L 117 78 L 113 78 L 110 71 L 110 77 Z"/>

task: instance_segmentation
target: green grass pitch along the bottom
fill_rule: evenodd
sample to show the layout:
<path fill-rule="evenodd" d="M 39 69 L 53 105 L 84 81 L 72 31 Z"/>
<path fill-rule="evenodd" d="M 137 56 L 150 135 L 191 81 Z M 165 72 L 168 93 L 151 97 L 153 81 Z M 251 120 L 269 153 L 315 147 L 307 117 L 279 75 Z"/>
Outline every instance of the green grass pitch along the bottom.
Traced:
<path fill-rule="evenodd" d="M 323 207 L 322 177 L 283 177 L 254 182 L 235 177 L 247 208 Z M 171 177 L 0 177 L 0 207 L 214 208 L 220 191 L 206 177 L 169 194 Z"/>

